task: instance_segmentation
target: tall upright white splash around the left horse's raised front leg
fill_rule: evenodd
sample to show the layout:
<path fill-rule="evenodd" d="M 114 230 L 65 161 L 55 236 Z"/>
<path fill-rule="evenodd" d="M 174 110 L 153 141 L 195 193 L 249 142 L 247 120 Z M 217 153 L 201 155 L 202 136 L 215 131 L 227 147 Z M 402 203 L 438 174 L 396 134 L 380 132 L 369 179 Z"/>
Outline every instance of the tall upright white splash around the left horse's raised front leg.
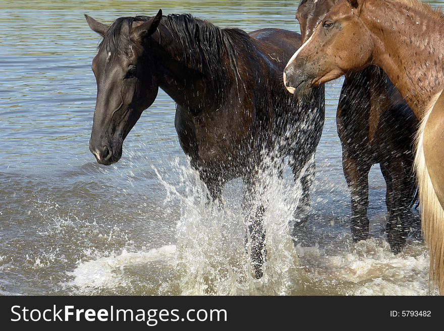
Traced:
<path fill-rule="evenodd" d="M 182 294 L 290 294 L 298 272 L 289 224 L 297 207 L 297 186 L 287 185 L 276 172 L 262 175 L 267 260 L 257 280 L 245 250 L 247 221 L 241 204 L 207 203 L 208 192 L 197 171 L 179 164 L 176 168 L 181 171 L 177 186 L 156 173 L 167 190 L 165 204 L 178 199 L 181 205 L 177 254 Z"/>

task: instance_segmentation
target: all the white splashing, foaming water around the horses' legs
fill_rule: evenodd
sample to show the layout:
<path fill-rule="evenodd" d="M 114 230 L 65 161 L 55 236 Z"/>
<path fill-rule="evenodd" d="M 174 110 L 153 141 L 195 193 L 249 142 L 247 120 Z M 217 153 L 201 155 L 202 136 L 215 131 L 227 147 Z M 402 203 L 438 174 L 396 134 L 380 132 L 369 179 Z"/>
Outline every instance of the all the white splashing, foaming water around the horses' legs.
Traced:
<path fill-rule="evenodd" d="M 313 230 L 316 239 L 307 241 L 307 228 L 328 223 L 313 215 L 305 230 L 292 233 L 301 187 L 273 169 L 261 176 L 267 254 L 263 277 L 256 279 L 245 246 L 240 181 L 226 185 L 223 201 L 208 202 L 197 171 L 180 158 L 172 164 L 174 173 L 152 168 L 164 189 L 164 217 L 176 224 L 175 244 L 134 252 L 127 247 L 79 261 L 65 286 L 89 294 L 106 289 L 157 295 L 436 294 L 428 289 L 428 254 L 421 242 L 410 240 L 404 252 L 393 255 L 383 237 L 353 243 L 348 230 L 324 242 Z"/>

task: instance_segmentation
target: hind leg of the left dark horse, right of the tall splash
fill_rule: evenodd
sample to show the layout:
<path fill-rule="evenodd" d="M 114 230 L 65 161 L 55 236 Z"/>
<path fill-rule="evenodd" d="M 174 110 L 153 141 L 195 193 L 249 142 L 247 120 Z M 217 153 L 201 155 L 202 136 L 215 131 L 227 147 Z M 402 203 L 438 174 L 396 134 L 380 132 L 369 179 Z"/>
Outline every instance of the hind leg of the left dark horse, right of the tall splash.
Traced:
<path fill-rule="evenodd" d="M 298 207 L 295 211 L 297 222 L 295 226 L 304 225 L 307 221 L 311 199 L 310 199 L 310 187 L 314 180 L 314 174 L 316 171 L 316 163 L 313 156 L 304 164 L 298 164 L 294 159 L 289 160 L 289 165 L 293 172 L 293 179 L 296 182 L 299 178 L 302 185 L 302 195 L 299 199 Z M 305 169 L 303 169 L 305 167 Z M 302 170 L 305 170 L 301 176 Z"/>

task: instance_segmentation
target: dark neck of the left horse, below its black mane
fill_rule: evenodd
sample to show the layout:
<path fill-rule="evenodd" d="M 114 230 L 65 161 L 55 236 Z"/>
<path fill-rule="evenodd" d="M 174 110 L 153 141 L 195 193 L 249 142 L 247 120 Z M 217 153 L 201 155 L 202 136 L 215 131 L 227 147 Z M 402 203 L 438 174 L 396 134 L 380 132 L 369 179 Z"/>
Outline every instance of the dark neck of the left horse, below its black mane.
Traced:
<path fill-rule="evenodd" d="M 199 60 L 196 54 L 194 63 L 190 63 L 188 56 L 190 48 L 181 47 L 181 43 L 171 32 L 159 25 L 156 33 L 150 39 L 151 50 L 155 57 L 156 72 L 159 87 L 165 91 L 177 104 L 186 109 L 217 107 L 218 91 L 211 84 L 212 75 L 209 68 L 195 69 L 195 60 Z M 193 55 L 193 54 L 192 54 Z"/>

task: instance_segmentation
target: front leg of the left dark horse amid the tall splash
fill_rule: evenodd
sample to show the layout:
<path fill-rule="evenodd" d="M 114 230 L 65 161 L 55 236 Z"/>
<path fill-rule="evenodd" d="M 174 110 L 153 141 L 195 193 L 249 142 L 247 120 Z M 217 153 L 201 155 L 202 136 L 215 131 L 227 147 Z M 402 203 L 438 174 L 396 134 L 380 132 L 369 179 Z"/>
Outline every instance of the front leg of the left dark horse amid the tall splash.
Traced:
<path fill-rule="evenodd" d="M 262 203 L 260 203 L 254 178 L 244 179 L 243 208 L 248 220 L 248 228 L 245 235 L 245 247 L 247 248 L 248 239 L 250 239 L 251 263 L 255 277 L 260 279 L 263 275 L 262 267 L 266 258 L 265 229 L 263 221 L 265 208 Z"/>

